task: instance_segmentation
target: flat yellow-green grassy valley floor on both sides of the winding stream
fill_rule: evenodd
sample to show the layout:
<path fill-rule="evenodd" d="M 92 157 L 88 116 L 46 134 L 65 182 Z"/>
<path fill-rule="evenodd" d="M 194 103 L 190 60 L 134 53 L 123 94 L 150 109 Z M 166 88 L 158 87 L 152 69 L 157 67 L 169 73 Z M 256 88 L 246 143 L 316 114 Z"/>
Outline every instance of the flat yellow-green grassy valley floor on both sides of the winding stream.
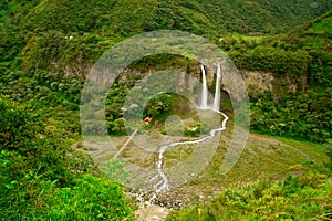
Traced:
<path fill-rule="evenodd" d="M 270 137 L 250 134 L 246 148 L 239 161 L 226 176 L 220 175 L 220 166 L 231 136 L 231 128 L 222 133 L 219 147 L 198 177 L 187 183 L 177 187 L 167 193 L 160 193 L 158 199 L 162 203 L 170 206 L 175 201 L 181 201 L 184 206 L 209 202 L 222 189 L 237 185 L 247 185 L 259 179 L 282 180 L 287 176 L 299 176 L 312 170 L 321 170 L 325 167 L 329 158 L 325 148 L 318 144 L 297 141 L 286 138 Z M 120 149 L 128 137 L 113 137 L 113 143 Z M 93 154 L 98 162 L 107 160 L 104 152 L 104 145 L 92 145 Z M 176 164 L 184 161 L 195 149 L 195 145 L 179 146 L 170 148 L 165 154 L 165 168 L 172 168 Z M 98 155 L 96 149 L 102 155 Z M 180 157 L 179 157 L 180 156 Z M 123 151 L 122 157 L 132 164 L 143 168 L 154 168 L 155 156 L 142 150 L 131 143 Z M 200 164 L 200 162 L 197 162 Z"/>

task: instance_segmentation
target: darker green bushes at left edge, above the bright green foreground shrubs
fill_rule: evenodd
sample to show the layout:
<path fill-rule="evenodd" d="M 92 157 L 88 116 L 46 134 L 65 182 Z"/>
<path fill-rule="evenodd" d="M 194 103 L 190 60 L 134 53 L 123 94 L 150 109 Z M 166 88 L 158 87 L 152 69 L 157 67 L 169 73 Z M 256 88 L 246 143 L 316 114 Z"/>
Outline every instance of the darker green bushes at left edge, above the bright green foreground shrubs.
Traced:
<path fill-rule="evenodd" d="M 70 171 L 70 157 L 65 157 L 70 152 L 65 143 L 52 139 L 54 134 L 45 129 L 37 116 L 29 114 L 29 107 L 20 107 L 7 97 L 1 97 L 0 110 L 0 149 L 4 154 L 11 152 L 9 157 L 20 159 L 7 168 L 13 175 L 8 179 L 22 178 L 24 172 L 20 168 L 23 167 L 28 172 L 37 170 L 51 180 L 56 179 L 60 185 L 70 183 L 73 171 Z"/>

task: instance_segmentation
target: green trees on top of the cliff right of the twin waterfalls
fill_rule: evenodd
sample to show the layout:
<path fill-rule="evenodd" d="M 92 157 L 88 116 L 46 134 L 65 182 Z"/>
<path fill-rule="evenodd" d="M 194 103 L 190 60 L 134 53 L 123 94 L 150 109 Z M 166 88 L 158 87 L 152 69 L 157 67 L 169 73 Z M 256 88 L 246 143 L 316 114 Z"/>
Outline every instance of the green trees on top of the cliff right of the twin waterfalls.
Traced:
<path fill-rule="evenodd" d="M 286 35 L 228 36 L 219 44 L 242 70 L 271 72 L 277 77 L 308 74 L 310 86 L 329 86 L 332 11 Z"/>

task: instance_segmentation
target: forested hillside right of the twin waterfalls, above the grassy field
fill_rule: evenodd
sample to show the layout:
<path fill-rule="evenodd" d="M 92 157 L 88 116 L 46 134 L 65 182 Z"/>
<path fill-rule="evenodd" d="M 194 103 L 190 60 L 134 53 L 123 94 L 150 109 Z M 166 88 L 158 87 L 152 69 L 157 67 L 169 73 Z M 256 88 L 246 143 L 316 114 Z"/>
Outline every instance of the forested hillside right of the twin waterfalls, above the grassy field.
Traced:
<path fill-rule="evenodd" d="M 332 11 L 277 38 L 220 43 L 240 69 L 276 77 L 272 91 L 250 94 L 253 130 L 319 143 L 331 138 L 331 18 Z"/>

